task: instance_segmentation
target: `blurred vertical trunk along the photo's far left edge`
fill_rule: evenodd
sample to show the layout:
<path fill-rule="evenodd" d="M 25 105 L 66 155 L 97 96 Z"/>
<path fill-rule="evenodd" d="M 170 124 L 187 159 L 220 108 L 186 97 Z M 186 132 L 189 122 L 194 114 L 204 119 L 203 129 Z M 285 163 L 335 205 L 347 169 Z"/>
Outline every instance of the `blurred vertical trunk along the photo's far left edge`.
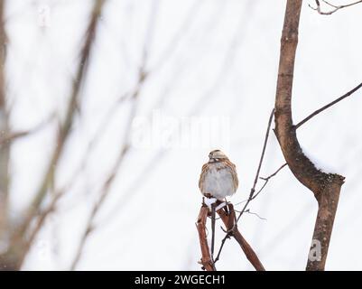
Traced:
<path fill-rule="evenodd" d="M 5 1 L 0 1 L 0 140 L 10 133 L 5 99 Z M 7 201 L 9 184 L 10 142 L 0 142 L 0 242 L 5 241 L 7 228 Z"/>

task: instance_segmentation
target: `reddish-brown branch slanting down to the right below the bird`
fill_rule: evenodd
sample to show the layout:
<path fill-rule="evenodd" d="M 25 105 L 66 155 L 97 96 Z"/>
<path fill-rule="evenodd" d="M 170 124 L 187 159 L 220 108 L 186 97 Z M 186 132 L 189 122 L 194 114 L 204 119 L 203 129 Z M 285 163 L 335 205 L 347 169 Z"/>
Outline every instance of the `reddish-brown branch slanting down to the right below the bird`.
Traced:
<path fill-rule="evenodd" d="M 229 203 L 227 204 L 228 212 L 225 210 L 220 209 L 218 210 L 218 216 L 224 222 L 225 227 L 227 228 L 227 234 L 229 236 L 234 237 L 237 240 L 237 243 L 240 245 L 241 249 L 246 255 L 246 258 L 249 260 L 251 265 L 255 267 L 256 271 L 265 271 L 265 267 L 263 266 L 262 262 L 260 262 L 259 258 L 256 256 L 255 251 L 253 248 L 247 243 L 246 239 L 241 235 L 240 231 L 235 226 L 235 210 L 234 206 Z"/>

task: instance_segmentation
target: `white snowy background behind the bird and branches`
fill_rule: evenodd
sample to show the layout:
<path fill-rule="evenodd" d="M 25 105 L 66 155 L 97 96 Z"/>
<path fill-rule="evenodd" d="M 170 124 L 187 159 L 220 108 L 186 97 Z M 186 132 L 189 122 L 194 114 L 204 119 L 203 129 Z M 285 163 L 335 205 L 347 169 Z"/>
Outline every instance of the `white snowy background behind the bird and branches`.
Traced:
<path fill-rule="evenodd" d="M 63 117 L 92 3 L 6 1 L 6 94 L 14 130 L 37 126 L 54 112 Z M 139 96 L 133 145 L 77 269 L 200 270 L 195 228 L 201 202 L 200 168 L 211 149 L 224 150 L 237 164 L 240 180 L 230 200 L 246 200 L 274 107 L 285 4 L 282 0 L 106 2 L 56 187 L 69 182 L 105 119 L 107 126 L 86 155 L 86 169 L 46 222 L 24 270 L 70 268 L 100 183 L 119 154 L 131 103 L 115 103 L 135 88 L 144 42 L 149 77 Z M 302 6 L 294 122 L 362 81 L 362 5 L 323 16 L 308 4 L 314 1 L 304 1 Z M 362 90 L 298 130 L 302 147 L 321 169 L 346 177 L 328 270 L 362 269 L 361 107 Z M 55 144 L 56 124 L 50 122 L 12 147 L 14 218 L 39 186 Z M 281 164 L 283 155 L 272 133 L 262 176 Z M 245 214 L 239 227 L 265 268 L 303 270 L 317 212 L 311 191 L 284 168 L 250 210 L 265 220 Z M 220 231 L 217 246 L 222 235 Z M 237 243 L 228 240 L 218 269 L 254 268 Z"/>

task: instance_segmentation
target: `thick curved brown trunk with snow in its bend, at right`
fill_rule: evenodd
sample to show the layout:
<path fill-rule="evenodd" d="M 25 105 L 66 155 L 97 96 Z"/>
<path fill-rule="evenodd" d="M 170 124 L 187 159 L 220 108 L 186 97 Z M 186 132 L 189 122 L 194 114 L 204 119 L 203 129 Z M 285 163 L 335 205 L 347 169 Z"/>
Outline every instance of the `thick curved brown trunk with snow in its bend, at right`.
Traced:
<path fill-rule="evenodd" d="M 324 270 L 330 236 L 344 177 L 320 172 L 302 152 L 292 124 L 292 81 L 302 0 L 288 0 L 285 10 L 277 88 L 275 135 L 295 178 L 310 189 L 319 204 L 307 270 Z M 316 246 L 316 248 L 314 248 Z"/>

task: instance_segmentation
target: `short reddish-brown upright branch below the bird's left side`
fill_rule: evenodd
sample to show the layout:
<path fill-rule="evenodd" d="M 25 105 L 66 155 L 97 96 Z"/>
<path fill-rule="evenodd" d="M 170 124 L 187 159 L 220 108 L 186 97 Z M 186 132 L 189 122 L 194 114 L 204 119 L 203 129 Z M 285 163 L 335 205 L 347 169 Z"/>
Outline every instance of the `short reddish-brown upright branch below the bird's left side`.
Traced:
<path fill-rule="evenodd" d="M 216 271 L 214 263 L 212 262 L 208 238 L 206 234 L 206 220 L 208 219 L 209 208 L 205 205 L 202 205 L 198 217 L 198 221 L 196 223 L 196 228 L 198 228 L 199 232 L 199 240 L 201 247 L 201 260 L 200 264 L 202 264 L 203 269 L 206 271 Z"/>

